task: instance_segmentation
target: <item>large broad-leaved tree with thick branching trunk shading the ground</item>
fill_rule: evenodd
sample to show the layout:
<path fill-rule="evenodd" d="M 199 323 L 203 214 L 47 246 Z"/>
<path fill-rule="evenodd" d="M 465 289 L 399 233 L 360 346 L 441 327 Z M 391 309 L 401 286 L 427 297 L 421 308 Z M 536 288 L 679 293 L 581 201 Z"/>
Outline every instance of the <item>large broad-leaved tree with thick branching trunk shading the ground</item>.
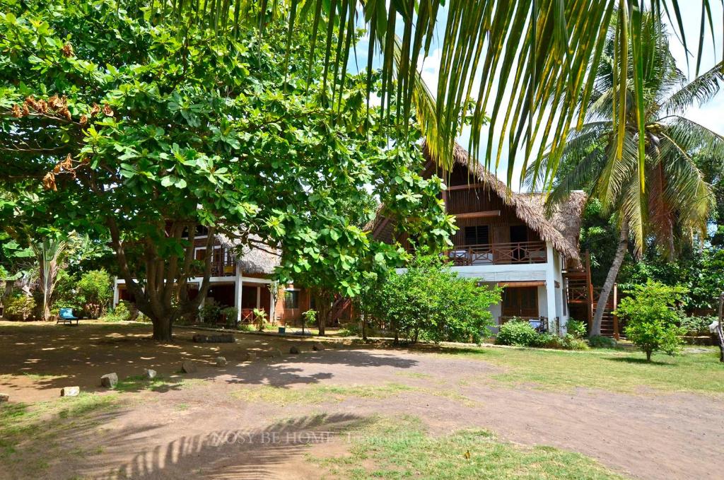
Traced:
<path fill-rule="evenodd" d="M 439 180 L 410 174 L 418 150 L 390 148 L 407 129 L 366 132 L 379 114 L 366 109 L 363 78 L 343 74 L 344 95 L 317 85 L 323 49 L 306 29 L 270 21 L 263 36 L 218 35 L 143 1 L 2 4 L 0 181 L 14 202 L 3 222 L 108 235 L 156 340 L 171 340 L 172 321 L 209 288 L 212 249 L 195 260 L 198 226 L 207 247 L 224 233 L 282 248 L 283 272 L 384 269 L 403 252 L 335 207 L 371 187 L 384 202 L 405 198 L 400 218 L 445 241 Z M 203 279 L 193 299 L 191 277 Z M 330 278 L 358 290 L 353 276 Z"/>

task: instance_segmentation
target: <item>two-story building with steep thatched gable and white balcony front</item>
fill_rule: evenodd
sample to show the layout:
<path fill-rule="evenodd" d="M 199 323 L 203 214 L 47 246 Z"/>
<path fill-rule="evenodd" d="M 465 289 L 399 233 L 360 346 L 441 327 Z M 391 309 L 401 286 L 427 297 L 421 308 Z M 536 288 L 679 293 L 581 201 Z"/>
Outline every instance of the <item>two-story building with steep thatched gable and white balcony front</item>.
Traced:
<path fill-rule="evenodd" d="M 425 153 L 429 159 L 426 148 Z M 572 192 L 547 216 L 544 194 L 510 192 L 494 174 L 471 164 L 458 145 L 452 171 L 439 172 L 435 162 L 427 162 L 424 175 L 434 173 L 445 178 L 442 199 L 459 228 L 445 253 L 452 269 L 481 285 L 505 287 L 502 302 L 492 308 L 497 324 L 515 316 L 565 331 L 570 317 L 566 274 L 581 266 L 578 235 L 585 193 Z M 384 206 L 368 229 L 376 239 L 410 247 L 384 216 Z"/>

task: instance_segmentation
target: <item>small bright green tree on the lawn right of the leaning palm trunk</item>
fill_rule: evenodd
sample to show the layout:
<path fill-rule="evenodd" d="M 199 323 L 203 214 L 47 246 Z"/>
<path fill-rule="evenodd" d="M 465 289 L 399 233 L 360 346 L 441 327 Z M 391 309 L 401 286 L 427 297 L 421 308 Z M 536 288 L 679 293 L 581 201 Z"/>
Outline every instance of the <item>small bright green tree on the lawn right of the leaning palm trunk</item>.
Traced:
<path fill-rule="evenodd" d="M 647 361 L 656 351 L 675 355 L 681 346 L 681 336 L 686 333 L 686 329 L 678 327 L 686 289 L 649 280 L 628 292 L 632 295 L 623 298 L 615 311 L 627 322 L 624 332 L 628 340 L 646 353 Z"/>

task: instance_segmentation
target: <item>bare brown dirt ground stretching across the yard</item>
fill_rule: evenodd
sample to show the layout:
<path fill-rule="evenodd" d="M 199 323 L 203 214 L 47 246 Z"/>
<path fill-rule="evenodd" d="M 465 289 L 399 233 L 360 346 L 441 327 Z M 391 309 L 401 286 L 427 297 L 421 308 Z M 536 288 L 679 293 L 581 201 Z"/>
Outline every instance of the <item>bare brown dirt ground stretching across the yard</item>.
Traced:
<path fill-rule="evenodd" d="M 183 375 L 198 382 L 122 393 L 132 401 L 77 426 L 63 447 L 85 454 L 51 462 L 47 478 L 317 479 L 306 455 L 343 453 L 346 426 L 400 414 L 422 418 L 436 434 L 483 428 L 512 442 L 581 452 L 635 478 L 715 479 L 724 471 L 718 397 L 510 387 L 490 378 L 500 367 L 475 359 L 332 342 L 313 352 L 313 340 L 255 334 L 209 345 L 191 342 L 193 330 L 177 329 L 174 345 L 155 345 L 149 329 L 38 324 L 20 332 L 0 322 L 0 392 L 12 402 L 53 399 L 69 385 L 100 392 L 99 377 L 111 371 L 125 378 L 150 368 L 178 378 L 183 360 L 198 361 L 196 374 Z M 292 345 L 302 353 L 287 354 Z M 281 358 L 271 356 L 276 348 L 285 353 Z M 247 352 L 256 360 L 243 361 Z M 215 366 L 218 355 L 229 364 Z M 331 394 L 322 403 L 238 395 L 264 385 L 409 388 L 383 397 Z M 308 445 L 310 432 L 321 434 L 314 439 L 332 432 L 331 441 Z M 0 471 L 0 478 L 8 473 L 22 478 L 12 471 Z"/>

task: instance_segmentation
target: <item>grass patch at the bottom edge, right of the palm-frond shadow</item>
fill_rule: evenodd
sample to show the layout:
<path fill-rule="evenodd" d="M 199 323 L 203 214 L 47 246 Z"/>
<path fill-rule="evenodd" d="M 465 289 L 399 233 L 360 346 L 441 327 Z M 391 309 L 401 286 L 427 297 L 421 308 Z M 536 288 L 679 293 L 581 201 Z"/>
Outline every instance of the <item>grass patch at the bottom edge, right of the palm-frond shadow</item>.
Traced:
<path fill-rule="evenodd" d="M 343 436 L 344 437 L 344 436 Z M 337 479 L 623 479 L 595 460 L 553 447 L 501 442 L 488 431 L 434 437 L 415 417 L 380 418 L 348 431 L 350 454 L 307 457 Z"/>

